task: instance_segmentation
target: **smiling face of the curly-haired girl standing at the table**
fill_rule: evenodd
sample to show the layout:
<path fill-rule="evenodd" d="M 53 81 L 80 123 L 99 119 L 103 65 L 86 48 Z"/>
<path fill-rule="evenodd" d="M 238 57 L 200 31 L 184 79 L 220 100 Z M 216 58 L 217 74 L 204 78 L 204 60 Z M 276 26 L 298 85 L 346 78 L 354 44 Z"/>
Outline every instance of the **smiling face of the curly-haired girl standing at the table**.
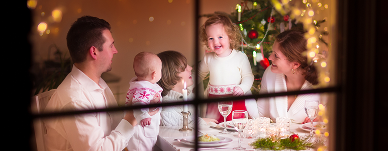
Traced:
<path fill-rule="evenodd" d="M 208 46 L 219 57 L 226 57 L 232 53 L 229 36 L 226 34 L 222 24 L 212 24 L 206 27 L 208 35 Z"/>

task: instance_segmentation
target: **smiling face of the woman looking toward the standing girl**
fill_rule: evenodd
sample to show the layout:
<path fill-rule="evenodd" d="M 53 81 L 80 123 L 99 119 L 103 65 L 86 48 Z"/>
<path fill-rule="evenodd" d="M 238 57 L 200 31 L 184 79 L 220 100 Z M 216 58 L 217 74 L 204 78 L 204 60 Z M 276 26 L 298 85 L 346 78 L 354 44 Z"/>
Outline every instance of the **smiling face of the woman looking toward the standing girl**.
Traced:
<path fill-rule="evenodd" d="M 272 61 L 271 71 L 273 73 L 291 73 L 292 63 L 280 51 L 280 45 L 276 40 L 273 43 L 272 53 L 268 59 Z"/>

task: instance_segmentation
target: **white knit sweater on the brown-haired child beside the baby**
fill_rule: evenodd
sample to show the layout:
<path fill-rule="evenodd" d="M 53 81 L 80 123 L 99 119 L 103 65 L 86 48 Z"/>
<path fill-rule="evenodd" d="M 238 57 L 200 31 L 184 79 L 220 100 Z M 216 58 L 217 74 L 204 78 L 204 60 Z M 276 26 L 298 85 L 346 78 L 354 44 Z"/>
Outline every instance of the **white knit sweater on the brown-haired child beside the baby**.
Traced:
<path fill-rule="evenodd" d="M 187 99 L 192 100 L 195 98 L 195 95 L 191 93 L 190 90 L 187 91 Z M 178 93 L 176 91 L 171 90 L 168 92 L 166 96 L 163 97 L 163 103 L 171 103 L 171 102 L 179 102 L 183 101 L 181 98 L 182 94 Z M 183 105 L 178 106 L 167 106 L 162 108 L 162 112 L 160 113 L 161 120 L 160 120 L 160 126 L 177 126 L 177 125 L 183 125 Z M 193 105 L 188 105 L 188 111 L 190 112 L 190 115 L 188 116 L 188 124 L 194 125 L 195 124 L 195 107 Z M 201 117 L 198 117 L 198 123 L 199 125 L 206 125 L 204 119 Z"/>

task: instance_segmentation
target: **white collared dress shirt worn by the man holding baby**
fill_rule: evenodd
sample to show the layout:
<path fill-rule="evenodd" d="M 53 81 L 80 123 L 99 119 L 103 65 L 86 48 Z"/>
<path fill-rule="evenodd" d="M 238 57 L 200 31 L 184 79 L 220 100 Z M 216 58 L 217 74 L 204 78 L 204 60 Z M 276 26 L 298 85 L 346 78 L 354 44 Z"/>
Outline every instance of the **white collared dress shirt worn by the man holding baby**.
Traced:
<path fill-rule="evenodd" d="M 75 65 L 50 99 L 45 112 L 93 110 L 117 107 L 108 85 L 99 85 Z M 44 120 L 47 150 L 118 150 L 132 137 L 133 126 L 123 112 L 98 112 Z"/>

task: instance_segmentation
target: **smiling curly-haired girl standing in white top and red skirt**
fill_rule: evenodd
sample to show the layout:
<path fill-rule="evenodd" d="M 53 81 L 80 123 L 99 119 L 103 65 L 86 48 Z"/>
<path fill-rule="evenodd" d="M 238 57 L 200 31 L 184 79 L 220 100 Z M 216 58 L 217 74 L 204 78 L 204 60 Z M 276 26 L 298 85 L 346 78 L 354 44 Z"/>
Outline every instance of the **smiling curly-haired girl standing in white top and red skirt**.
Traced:
<path fill-rule="evenodd" d="M 205 96 L 231 97 L 252 95 L 250 91 L 254 76 L 248 57 L 236 50 L 241 42 L 239 28 L 224 15 L 210 17 L 201 27 L 201 40 L 212 50 L 199 63 L 198 74 L 203 80 L 208 73 L 210 79 Z M 234 100 L 232 111 L 248 111 L 250 117 L 258 117 L 256 100 Z M 230 114 L 227 121 L 232 120 Z M 217 103 L 208 103 L 206 116 L 224 122 Z"/>

